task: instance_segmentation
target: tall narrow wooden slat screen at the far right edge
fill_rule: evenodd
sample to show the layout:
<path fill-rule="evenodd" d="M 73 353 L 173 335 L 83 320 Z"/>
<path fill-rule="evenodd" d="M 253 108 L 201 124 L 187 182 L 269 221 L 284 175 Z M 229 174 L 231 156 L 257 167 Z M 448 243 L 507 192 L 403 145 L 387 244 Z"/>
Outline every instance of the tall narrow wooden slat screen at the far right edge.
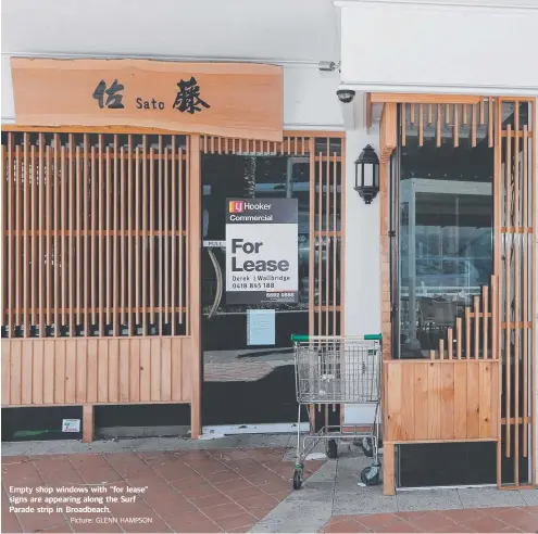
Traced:
<path fill-rule="evenodd" d="M 535 481 L 535 101 L 500 100 L 496 150 L 496 272 L 500 279 L 500 485 Z M 531 479 L 522 459 L 528 458 Z M 511 466 L 510 466 L 511 463 Z M 505 466 L 505 469 L 501 469 Z M 510 467 L 509 467 L 510 466 Z M 512 473 L 512 474 L 508 474 Z"/>

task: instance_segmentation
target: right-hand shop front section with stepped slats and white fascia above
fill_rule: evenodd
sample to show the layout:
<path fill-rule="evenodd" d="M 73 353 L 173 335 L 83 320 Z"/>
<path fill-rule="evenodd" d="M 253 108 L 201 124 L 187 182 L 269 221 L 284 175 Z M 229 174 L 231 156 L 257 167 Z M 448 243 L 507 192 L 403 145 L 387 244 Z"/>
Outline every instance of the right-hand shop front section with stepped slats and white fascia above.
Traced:
<path fill-rule="evenodd" d="M 380 155 L 385 492 L 535 487 L 536 7 L 337 4 Z"/>

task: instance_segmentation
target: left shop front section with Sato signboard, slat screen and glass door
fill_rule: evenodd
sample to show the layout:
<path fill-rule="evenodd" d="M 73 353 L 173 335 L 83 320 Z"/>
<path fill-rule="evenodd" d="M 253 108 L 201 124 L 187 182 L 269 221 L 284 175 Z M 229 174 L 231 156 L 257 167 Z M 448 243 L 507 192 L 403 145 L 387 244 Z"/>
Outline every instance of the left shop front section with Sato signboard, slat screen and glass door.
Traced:
<path fill-rule="evenodd" d="M 192 437 L 293 431 L 291 334 L 340 332 L 345 139 L 312 128 L 315 113 L 306 129 L 284 118 L 302 86 L 333 101 L 338 80 L 315 84 L 317 66 L 9 60 L 2 404 L 41 410 L 11 416 L 27 425 L 14 438 L 61 436 L 70 417 L 89 441 L 137 406 L 130 425 Z"/>

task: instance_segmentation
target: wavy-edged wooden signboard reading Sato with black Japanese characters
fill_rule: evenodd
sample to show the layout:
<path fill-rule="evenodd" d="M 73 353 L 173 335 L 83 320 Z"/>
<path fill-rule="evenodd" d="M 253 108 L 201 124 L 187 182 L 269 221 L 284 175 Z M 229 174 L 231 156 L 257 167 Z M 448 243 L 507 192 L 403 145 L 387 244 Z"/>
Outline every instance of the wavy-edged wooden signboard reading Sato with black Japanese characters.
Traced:
<path fill-rule="evenodd" d="M 12 58 L 24 126 L 129 126 L 283 140 L 283 71 L 247 63 Z"/>

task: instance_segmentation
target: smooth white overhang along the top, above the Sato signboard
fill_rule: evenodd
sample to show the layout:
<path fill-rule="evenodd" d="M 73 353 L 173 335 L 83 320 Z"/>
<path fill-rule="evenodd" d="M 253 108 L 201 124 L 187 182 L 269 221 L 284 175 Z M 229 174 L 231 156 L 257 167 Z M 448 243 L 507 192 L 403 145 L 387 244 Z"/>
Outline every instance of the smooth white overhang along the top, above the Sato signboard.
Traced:
<path fill-rule="evenodd" d="M 3 0 L 2 54 L 339 60 L 331 0 Z"/>

